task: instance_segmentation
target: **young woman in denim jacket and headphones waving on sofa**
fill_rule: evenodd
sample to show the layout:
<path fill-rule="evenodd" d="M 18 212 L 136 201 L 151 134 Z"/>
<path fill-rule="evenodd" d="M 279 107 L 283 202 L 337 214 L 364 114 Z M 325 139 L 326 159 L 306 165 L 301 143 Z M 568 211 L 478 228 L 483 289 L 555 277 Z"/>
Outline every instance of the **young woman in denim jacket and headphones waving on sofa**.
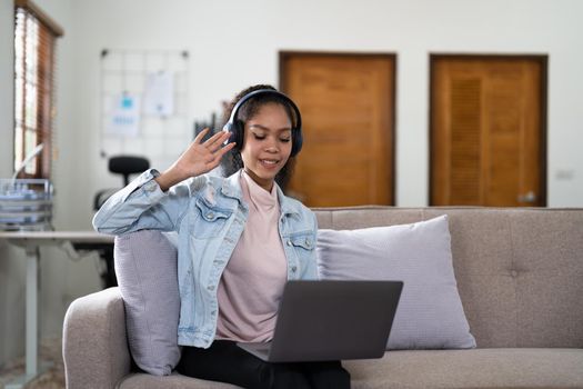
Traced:
<path fill-rule="evenodd" d="M 93 226 L 178 231 L 180 373 L 245 388 L 350 388 L 339 361 L 269 363 L 235 346 L 269 341 L 285 281 L 316 278 L 315 216 L 278 184 L 302 147 L 300 111 L 254 86 L 233 99 L 225 131 L 202 142 L 207 133 L 163 173 L 145 171 L 115 193 Z M 221 161 L 225 178 L 207 174 Z"/>

